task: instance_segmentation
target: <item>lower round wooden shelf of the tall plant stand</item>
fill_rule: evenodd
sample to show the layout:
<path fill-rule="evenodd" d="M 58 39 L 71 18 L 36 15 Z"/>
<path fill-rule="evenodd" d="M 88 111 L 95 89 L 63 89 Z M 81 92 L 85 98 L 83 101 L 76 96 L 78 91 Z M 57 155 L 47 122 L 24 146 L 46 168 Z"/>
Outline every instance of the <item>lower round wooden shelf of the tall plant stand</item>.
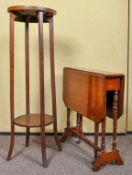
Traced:
<path fill-rule="evenodd" d="M 48 114 L 44 115 L 45 126 L 54 123 L 54 117 Z M 40 127 L 40 114 L 21 115 L 14 119 L 14 124 L 22 127 Z"/>

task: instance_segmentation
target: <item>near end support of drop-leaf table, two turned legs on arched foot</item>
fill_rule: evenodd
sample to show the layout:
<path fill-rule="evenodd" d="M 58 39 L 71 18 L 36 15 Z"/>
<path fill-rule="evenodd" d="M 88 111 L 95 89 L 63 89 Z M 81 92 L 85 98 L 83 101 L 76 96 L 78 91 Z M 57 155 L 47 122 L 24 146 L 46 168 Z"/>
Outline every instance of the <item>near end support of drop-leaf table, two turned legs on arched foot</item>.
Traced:
<path fill-rule="evenodd" d="M 102 143 L 101 150 L 102 154 L 96 159 L 93 170 L 98 171 L 101 166 L 108 163 L 115 163 L 117 165 L 122 165 L 123 160 L 120 156 L 119 151 L 116 149 L 116 134 L 117 134 L 117 117 L 118 117 L 118 91 L 114 92 L 113 101 L 113 140 L 112 140 L 112 151 L 105 151 L 105 128 L 106 119 L 102 121 Z"/>

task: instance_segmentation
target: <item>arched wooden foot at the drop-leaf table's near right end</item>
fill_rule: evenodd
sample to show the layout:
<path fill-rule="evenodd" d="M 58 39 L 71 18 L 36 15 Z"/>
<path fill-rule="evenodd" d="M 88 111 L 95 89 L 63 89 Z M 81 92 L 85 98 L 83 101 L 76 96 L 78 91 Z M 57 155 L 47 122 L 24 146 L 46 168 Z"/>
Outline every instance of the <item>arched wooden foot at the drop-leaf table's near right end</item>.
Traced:
<path fill-rule="evenodd" d="M 118 150 L 102 153 L 93 163 L 93 171 L 98 171 L 106 164 L 123 165 L 124 162 Z"/>

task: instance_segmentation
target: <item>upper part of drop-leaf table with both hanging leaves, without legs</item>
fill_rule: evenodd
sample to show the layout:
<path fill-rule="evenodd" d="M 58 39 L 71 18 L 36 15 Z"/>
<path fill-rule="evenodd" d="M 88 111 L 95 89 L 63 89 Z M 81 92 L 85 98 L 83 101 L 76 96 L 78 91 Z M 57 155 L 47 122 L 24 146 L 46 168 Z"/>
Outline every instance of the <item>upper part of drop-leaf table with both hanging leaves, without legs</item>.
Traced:
<path fill-rule="evenodd" d="M 115 81 L 117 77 L 118 81 Z M 119 90 L 119 85 L 124 84 L 122 74 L 96 73 L 94 71 L 92 73 L 73 68 L 64 69 L 63 80 L 63 100 L 65 105 L 96 122 L 101 121 L 105 115 L 105 96 L 107 96 L 105 90 L 107 89 L 108 92 Z M 114 83 L 113 89 L 110 82 Z M 118 86 L 116 85 L 117 82 L 119 82 Z M 120 86 L 118 118 L 123 114 L 123 88 L 123 85 Z M 110 95 L 113 96 L 113 93 L 110 92 Z M 113 117 L 112 109 L 108 109 L 106 113 L 108 117 Z"/>

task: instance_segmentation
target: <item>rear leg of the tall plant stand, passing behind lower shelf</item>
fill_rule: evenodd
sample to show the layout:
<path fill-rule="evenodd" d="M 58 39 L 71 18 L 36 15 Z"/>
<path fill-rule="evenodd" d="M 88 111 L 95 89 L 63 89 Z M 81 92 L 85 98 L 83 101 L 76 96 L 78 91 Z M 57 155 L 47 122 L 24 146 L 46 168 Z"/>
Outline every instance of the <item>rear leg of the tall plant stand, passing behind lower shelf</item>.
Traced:
<path fill-rule="evenodd" d="M 26 114 L 30 113 L 30 84 L 29 84 L 29 23 L 28 19 L 25 23 L 25 67 L 26 67 Z M 26 129 L 26 146 L 29 146 L 29 133 L 30 128 Z"/>

